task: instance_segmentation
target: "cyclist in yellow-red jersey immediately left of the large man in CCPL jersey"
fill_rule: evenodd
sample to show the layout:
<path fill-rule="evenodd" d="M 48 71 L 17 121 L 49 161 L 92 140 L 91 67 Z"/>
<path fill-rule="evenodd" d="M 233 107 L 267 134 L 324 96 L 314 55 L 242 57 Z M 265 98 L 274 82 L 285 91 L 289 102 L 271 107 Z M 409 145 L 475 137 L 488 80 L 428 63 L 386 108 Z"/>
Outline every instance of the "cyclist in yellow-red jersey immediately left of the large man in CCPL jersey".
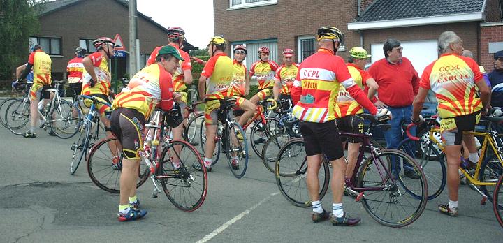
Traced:
<path fill-rule="evenodd" d="M 275 86 L 272 89 L 274 99 L 278 101 L 282 110 L 291 108 L 290 89 L 298 73 L 298 64 L 293 62 L 292 57 L 293 50 L 288 48 L 283 50 L 283 65 L 276 70 Z"/>

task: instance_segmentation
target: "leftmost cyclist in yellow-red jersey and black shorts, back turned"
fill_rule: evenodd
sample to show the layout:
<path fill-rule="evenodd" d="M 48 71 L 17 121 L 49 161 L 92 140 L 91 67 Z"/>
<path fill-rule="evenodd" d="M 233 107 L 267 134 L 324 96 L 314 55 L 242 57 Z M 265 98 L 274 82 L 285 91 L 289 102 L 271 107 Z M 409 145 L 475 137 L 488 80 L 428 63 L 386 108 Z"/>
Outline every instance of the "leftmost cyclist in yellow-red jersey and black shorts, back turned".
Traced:
<path fill-rule="evenodd" d="M 40 45 L 35 45 L 34 52 L 29 55 L 27 67 L 24 68 L 20 76 L 20 80 L 23 80 L 33 68 L 34 81 L 29 92 L 31 125 L 29 131 L 23 134 L 24 138 L 36 138 L 35 126 L 38 118 L 38 101 L 42 96 L 43 107 L 49 102 L 50 94 L 45 90 L 50 88 L 52 82 L 51 64 L 52 60 L 49 55 L 42 51 Z"/>

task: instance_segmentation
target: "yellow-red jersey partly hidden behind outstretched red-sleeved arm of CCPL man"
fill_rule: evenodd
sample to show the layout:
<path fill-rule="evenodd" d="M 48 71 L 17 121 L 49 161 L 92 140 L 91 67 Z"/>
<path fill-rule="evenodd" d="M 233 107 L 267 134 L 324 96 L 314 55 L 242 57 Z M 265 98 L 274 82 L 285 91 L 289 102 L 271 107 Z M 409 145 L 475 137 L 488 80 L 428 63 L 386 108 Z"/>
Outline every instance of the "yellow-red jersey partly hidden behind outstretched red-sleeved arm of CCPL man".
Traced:
<path fill-rule="evenodd" d="M 347 64 L 349 74 L 354 82 L 360 89 L 366 85 L 365 81 L 372 78 L 367 71 L 363 71 L 355 64 Z M 346 117 L 347 115 L 356 115 L 363 113 L 363 106 L 361 106 L 349 92 L 344 89 L 344 86 L 339 87 L 339 95 L 337 96 L 337 104 L 335 105 L 335 118 Z"/>

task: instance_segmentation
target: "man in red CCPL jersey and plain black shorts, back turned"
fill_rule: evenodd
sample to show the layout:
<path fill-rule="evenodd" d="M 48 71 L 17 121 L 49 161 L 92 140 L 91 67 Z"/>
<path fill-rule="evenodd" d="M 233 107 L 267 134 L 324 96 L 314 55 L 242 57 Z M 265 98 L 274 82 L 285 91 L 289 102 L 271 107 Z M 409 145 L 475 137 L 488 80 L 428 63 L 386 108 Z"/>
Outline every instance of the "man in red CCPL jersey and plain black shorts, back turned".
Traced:
<path fill-rule="evenodd" d="M 300 119 L 300 133 L 304 138 L 307 154 L 307 189 L 312 200 L 312 221 L 320 222 L 330 218 L 334 226 L 355 225 L 360 219 L 351 219 L 342 209 L 344 173 L 346 162 L 335 125 L 335 104 L 340 85 L 371 114 L 377 114 L 377 108 L 369 101 L 365 93 L 354 82 L 346 64 L 335 55 L 340 46 L 342 32 L 335 27 L 318 29 L 318 52 L 307 57 L 300 64 L 296 80 L 293 82 L 291 96 L 295 106 L 293 115 Z M 387 110 L 378 116 L 389 115 Z M 333 192 L 332 215 L 321 207 L 319 201 L 318 172 L 321 156 L 324 154 L 333 168 L 331 188 Z"/>

